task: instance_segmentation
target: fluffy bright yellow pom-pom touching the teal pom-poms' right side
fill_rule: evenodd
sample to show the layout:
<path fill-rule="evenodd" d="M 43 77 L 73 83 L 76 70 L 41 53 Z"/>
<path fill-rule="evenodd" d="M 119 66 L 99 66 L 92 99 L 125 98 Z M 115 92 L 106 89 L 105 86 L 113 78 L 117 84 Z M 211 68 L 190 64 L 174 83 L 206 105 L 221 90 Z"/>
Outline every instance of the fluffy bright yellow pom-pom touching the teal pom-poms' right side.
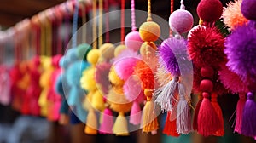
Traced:
<path fill-rule="evenodd" d="M 95 68 L 91 67 L 84 70 L 80 79 L 81 87 L 85 90 L 92 91 L 96 90 L 96 81 L 94 79 Z"/>

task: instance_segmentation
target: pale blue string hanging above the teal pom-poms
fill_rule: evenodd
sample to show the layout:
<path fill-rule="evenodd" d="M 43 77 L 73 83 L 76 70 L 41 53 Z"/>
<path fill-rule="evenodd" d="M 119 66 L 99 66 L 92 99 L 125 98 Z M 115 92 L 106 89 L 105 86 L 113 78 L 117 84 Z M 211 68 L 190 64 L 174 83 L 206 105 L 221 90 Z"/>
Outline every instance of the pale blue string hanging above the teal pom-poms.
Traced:
<path fill-rule="evenodd" d="M 72 26 L 72 48 L 77 46 L 77 34 L 78 29 L 78 20 L 79 20 L 79 1 L 75 1 L 75 9 L 73 12 L 73 26 Z"/>

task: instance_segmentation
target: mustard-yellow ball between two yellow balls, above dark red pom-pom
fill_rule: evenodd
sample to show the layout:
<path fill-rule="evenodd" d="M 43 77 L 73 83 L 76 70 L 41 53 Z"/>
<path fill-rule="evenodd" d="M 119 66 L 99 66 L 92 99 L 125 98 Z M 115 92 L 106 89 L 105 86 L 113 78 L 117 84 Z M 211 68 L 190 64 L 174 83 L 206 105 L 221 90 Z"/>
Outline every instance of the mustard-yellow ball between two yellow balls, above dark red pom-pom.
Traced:
<path fill-rule="evenodd" d="M 104 43 L 100 47 L 100 52 L 102 54 L 101 60 L 110 60 L 113 58 L 114 45 L 113 43 Z"/>

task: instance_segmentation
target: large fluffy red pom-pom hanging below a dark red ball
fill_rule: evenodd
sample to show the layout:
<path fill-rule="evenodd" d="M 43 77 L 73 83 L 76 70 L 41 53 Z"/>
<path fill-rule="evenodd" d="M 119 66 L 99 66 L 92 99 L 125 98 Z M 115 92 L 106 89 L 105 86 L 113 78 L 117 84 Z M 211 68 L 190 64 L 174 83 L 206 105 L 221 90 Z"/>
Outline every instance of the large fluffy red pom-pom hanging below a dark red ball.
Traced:
<path fill-rule="evenodd" d="M 218 29 L 198 26 L 190 32 L 188 51 L 195 66 L 218 67 L 225 58 L 224 37 Z"/>

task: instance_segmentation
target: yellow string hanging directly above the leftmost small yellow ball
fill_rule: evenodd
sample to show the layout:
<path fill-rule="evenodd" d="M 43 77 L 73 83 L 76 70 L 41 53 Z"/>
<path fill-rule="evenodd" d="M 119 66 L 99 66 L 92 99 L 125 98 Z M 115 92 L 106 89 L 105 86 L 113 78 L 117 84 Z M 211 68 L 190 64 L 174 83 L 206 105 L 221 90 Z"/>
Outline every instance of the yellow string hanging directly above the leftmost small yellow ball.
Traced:
<path fill-rule="evenodd" d="M 97 48 L 97 29 L 96 29 L 96 0 L 92 1 L 92 13 L 93 13 L 93 24 L 92 24 L 92 39 L 93 39 L 93 43 L 92 43 L 92 49 L 96 49 Z"/>

